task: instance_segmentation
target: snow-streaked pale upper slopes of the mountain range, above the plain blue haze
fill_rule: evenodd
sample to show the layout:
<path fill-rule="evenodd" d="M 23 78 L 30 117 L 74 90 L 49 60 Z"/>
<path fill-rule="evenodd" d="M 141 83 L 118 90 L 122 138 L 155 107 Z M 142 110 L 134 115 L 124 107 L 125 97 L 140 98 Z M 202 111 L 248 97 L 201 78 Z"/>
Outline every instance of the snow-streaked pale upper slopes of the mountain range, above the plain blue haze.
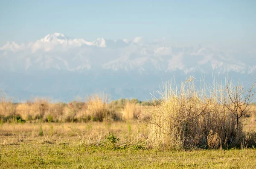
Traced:
<path fill-rule="evenodd" d="M 234 53 L 214 51 L 199 44 L 175 47 L 146 42 L 143 37 L 87 41 L 54 33 L 28 44 L 7 42 L 0 47 L 0 70 L 12 71 L 87 71 L 97 68 L 138 73 L 254 73 L 255 62 L 256 59 L 250 58 L 249 64 L 245 64 L 236 59 Z"/>

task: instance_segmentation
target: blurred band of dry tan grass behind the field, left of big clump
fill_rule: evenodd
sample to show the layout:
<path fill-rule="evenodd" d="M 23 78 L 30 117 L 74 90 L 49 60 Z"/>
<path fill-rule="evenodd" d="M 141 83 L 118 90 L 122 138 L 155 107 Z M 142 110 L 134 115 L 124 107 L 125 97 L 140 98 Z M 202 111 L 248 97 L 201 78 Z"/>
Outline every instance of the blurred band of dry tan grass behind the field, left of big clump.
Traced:
<path fill-rule="evenodd" d="M 0 120 L 11 122 L 18 117 L 28 122 L 119 121 L 137 118 L 148 107 L 141 105 L 137 99 L 108 103 L 108 97 L 104 94 L 95 94 L 84 102 L 72 101 L 68 104 L 51 103 L 49 99 L 40 98 L 14 104 L 3 97 L 0 100 Z"/>

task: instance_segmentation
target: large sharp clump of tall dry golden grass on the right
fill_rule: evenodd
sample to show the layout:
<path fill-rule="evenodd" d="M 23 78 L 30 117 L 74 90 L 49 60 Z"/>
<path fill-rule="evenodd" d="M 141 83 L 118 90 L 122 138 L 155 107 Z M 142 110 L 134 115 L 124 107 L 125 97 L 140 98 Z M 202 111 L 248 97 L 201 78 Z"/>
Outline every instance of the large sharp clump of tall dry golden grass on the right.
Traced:
<path fill-rule="evenodd" d="M 254 85 L 253 85 L 254 87 Z M 166 85 L 160 104 L 150 113 L 149 146 L 218 148 L 241 143 L 253 87 L 213 84 L 196 90 L 190 78 L 178 88 Z"/>

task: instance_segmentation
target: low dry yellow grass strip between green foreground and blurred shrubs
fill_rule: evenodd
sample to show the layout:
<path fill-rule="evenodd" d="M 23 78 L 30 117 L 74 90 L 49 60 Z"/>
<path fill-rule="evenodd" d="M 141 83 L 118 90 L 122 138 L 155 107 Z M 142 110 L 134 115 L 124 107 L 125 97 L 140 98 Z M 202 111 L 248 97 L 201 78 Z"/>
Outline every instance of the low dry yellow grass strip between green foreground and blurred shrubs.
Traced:
<path fill-rule="evenodd" d="M 136 144 L 137 137 L 146 141 L 145 125 L 138 126 L 137 121 L 115 121 L 87 123 L 3 123 L 0 124 L 0 146 L 24 144 L 41 144 L 49 141 L 55 144 L 66 142 L 84 146 L 99 145 L 105 141 L 105 135 L 113 133 L 120 140 L 118 144 Z M 138 135 L 139 134 L 139 135 Z"/>

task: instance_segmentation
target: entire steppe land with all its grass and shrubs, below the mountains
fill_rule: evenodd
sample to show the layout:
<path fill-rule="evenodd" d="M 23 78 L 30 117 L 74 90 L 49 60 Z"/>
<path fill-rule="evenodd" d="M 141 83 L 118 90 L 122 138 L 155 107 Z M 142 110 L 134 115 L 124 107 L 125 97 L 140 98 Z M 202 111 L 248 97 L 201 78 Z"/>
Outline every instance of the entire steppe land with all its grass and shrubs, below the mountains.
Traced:
<path fill-rule="evenodd" d="M 0 168 L 256 168 L 253 87 L 197 90 L 188 80 L 159 93 L 70 103 L 3 95 Z"/>

